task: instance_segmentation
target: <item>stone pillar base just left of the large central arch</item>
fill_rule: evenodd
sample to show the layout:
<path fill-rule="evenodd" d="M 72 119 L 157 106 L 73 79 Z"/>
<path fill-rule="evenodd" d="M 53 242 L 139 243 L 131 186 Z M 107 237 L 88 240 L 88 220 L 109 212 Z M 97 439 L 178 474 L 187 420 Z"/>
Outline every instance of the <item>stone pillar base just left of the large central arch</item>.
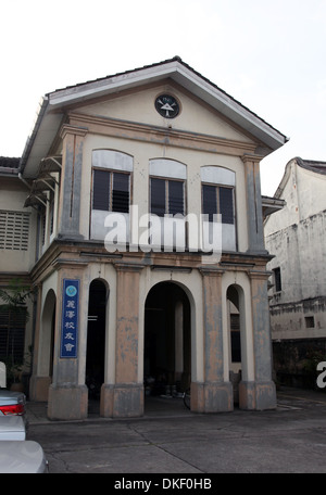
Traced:
<path fill-rule="evenodd" d="M 139 418 L 143 416 L 143 385 L 103 384 L 100 415 L 105 418 Z"/>

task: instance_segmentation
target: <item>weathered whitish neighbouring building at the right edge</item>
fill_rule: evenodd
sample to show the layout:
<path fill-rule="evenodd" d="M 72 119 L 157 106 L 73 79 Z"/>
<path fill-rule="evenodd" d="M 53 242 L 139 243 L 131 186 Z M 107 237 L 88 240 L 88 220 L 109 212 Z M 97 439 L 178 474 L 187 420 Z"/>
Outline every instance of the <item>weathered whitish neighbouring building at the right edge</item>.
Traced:
<path fill-rule="evenodd" d="M 325 187 L 325 162 L 290 160 L 275 193 L 285 207 L 264 226 L 275 256 L 267 265 L 275 368 L 297 384 L 312 352 L 326 354 Z"/>

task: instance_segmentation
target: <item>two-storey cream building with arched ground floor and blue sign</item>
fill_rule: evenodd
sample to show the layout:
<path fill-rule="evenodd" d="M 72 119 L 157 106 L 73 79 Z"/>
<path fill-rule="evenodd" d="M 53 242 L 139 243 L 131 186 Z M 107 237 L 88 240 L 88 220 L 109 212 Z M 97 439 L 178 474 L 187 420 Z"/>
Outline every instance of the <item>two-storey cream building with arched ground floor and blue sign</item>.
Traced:
<path fill-rule="evenodd" d="M 233 410 L 239 370 L 239 406 L 275 407 L 260 161 L 285 142 L 179 58 L 42 99 L 1 182 L 28 228 L 0 248 L 2 284 L 37 289 L 29 394 L 50 418 L 85 418 L 97 384 L 104 417 L 162 385 Z"/>

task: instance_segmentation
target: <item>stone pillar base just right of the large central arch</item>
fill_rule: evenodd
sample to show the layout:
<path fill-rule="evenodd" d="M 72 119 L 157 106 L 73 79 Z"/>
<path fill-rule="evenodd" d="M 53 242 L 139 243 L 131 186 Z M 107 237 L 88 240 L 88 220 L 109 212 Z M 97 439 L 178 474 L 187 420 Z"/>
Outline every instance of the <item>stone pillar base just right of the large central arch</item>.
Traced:
<path fill-rule="evenodd" d="M 227 412 L 234 409 L 230 382 L 191 383 L 190 408 L 193 412 Z"/>

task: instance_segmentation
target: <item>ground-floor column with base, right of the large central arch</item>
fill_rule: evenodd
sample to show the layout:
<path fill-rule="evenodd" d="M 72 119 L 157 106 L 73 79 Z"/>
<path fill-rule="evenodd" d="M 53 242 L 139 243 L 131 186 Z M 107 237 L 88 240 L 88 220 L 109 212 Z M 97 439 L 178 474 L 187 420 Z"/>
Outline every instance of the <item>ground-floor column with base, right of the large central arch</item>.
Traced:
<path fill-rule="evenodd" d="M 223 270 L 202 268 L 204 383 L 191 383 L 191 409 L 201 412 L 233 410 L 233 386 L 224 379 L 222 323 Z"/>

